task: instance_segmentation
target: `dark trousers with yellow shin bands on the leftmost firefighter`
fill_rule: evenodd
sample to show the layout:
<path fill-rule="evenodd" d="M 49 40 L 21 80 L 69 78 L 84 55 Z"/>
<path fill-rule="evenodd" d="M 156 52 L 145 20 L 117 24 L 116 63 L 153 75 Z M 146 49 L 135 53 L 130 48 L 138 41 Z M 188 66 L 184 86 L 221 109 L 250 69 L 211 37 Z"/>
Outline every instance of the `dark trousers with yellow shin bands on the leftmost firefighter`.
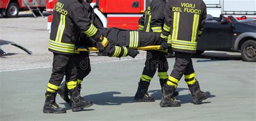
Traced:
<path fill-rule="evenodd" d="M 64 78 L 64 75 L 67 83 L 76 83 L 77 68 L 73 62 L 73 55 L 53 53 L 52 74 L 48 83 L 47 91 L 57 90 Z"/>

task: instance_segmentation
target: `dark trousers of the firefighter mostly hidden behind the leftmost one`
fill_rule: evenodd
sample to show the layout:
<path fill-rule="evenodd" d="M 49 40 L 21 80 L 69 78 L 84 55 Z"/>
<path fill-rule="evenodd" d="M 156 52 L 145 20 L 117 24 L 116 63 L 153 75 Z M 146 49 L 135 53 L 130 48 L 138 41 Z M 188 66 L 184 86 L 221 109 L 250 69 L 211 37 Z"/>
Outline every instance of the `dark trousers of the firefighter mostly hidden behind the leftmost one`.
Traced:
<path fill-rule="evenodd" d="M 73 61 L 77 68 L 77 84 L 80 84 L 91 72 L 89 52 L 80 52 L 80 54 L 74 54 Z"/>

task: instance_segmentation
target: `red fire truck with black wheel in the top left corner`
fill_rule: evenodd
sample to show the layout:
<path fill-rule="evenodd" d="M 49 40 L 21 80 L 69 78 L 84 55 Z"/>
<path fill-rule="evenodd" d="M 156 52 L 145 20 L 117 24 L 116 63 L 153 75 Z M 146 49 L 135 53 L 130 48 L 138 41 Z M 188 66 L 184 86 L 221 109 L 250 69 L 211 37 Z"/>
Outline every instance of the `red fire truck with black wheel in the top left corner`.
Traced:
<path fill-rule="evenodd" d="M 19 11 L 32 10 L 34 13 L 37 11 L 45 10 L 46 0 L 1 0 L 0 13 L 4 17 L 14 18 L 18 16 Z"/>

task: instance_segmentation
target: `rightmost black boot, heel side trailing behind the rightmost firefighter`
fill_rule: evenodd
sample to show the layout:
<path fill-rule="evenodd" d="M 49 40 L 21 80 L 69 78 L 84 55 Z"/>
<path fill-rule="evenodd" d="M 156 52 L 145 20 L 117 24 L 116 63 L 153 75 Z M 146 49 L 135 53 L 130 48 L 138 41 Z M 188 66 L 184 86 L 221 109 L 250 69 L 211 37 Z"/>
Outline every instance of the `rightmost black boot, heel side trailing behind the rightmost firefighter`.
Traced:
<path fill-rule="evenodd" d="M 188 85 L 188 88 L 190 88 L 194 104 L 201 104 L 204 99 L 207 99 L 211 95 L 208 91 L 204 92 L 200 90 L 198 81 Z"/>

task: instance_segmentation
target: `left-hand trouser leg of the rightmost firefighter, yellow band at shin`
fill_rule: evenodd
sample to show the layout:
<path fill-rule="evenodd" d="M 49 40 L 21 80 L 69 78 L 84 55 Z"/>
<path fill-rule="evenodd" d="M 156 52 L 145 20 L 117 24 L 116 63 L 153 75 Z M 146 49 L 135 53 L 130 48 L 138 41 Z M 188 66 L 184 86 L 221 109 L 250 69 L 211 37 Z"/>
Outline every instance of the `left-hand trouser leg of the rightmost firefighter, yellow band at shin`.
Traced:
<path fill-rule="evenodd" d="M 181 79 L 181 77 L 185 74 L 186 70 L 187 72 L 191 72 L 193 69 L 193 66 L 188 66 L 190 63 L 192 65 L 191 53 L 176 51 L 175 55 L 176 55 L 175 63 L 173 66 L 172 73 L 169 76 L 169 79 L 167 81 L 167 84 L 177 88 L 178 82 Z"/>

